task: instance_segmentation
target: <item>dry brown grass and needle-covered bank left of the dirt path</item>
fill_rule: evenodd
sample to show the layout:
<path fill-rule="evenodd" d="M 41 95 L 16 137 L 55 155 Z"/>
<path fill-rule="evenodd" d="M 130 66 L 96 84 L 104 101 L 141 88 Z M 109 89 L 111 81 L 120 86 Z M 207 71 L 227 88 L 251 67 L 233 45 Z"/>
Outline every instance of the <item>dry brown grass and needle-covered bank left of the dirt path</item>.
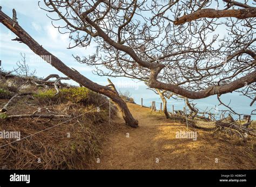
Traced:
<path fill-rule="evenodd" d="M 104 96 L 85 88 L 63 89 L 59 96 L 50 97 L 51 93 L 55 92 L 39 91 L 34 100 L 21 99 L 7 114 L 32 113 L 38 107 L 41 113 L 48 113 L 43 109 L 48 106 L 53 113 L 75 119 L 0 119 L 0 131 L 28 136 L 14 143 L 1 140 L 1 146 L 5 146 L 0 148 L 0 169 L 86 169 L 100 155 L 106 134 L 118 128 L 118 124 L 109 123 L 109 102 Z M 116 108 L 111 110 L 114 117 Z"/>

